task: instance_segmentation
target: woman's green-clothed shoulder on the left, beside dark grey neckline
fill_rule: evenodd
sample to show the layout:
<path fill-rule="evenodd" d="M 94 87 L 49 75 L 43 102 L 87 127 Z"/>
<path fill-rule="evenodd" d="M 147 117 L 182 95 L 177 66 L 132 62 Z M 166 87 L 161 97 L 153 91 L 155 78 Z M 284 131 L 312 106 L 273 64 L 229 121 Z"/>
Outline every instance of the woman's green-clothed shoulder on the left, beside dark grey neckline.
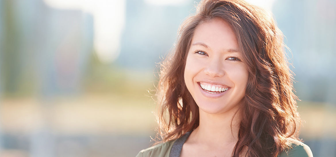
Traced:
<path fill-rule="evenodd" d="M 176 140 L 168 141 L 141 150 L 136 157 L 169 157 L 171 147 Z"/>

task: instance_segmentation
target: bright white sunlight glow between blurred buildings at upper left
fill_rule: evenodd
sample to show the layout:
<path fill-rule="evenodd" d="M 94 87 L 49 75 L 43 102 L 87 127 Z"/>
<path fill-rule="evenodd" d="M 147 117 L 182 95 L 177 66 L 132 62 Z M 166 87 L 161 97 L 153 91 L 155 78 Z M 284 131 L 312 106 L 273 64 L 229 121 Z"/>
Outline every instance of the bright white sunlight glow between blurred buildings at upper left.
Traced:
<path fill-rule="evenodd" d="M 58 9 L 79 9 L 94 19 L 93 45 L 100 61 L 111 63 L 120 53 L 121 32 L 125 23 L 125 1 L 107 0 L 44 0 Z"/>

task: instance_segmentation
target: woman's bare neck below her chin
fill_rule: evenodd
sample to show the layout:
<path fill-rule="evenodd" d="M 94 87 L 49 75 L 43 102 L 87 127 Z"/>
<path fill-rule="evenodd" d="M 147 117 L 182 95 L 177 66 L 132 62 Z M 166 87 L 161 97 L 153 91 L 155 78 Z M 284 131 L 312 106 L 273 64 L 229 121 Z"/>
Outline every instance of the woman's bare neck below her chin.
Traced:
<path fill-rule="evenodd" d="M 200 109 L 200 125 L 193 131 L 195 140 L 209 145 L 235 145 L 241 120 L 235 111 L 209 114 Z"/>

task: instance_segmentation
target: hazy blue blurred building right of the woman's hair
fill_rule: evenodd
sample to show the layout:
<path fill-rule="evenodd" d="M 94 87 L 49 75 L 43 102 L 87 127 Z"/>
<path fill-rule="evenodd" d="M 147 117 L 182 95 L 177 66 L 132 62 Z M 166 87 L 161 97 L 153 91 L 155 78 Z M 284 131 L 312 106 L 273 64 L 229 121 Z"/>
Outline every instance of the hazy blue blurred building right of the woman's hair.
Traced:
<path fill-rule="evenodd" d="M 285 43 L 297 95 L 336 105 L 336 1 L 279 0 L 272 9 Z"/>

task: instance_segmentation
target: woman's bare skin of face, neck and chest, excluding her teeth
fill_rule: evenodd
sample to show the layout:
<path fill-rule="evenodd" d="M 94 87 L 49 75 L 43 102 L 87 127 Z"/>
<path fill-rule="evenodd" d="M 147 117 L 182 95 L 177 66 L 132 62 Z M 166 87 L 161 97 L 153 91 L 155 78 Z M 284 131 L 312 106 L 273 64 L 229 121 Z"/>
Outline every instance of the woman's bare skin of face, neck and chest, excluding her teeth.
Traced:
<path fill-rule="evenodd" d="M 238 141 L 240 113 L 237 111 L 249 77 L 241 53 L 234 31 L 224 20 L 212 19 L 195 29 L 184 80 L 199 106 L 200 125 L 184 143 L 182 157 L 232 156 Z M 209 93 L 200 83 L 228 90 Z"/>

